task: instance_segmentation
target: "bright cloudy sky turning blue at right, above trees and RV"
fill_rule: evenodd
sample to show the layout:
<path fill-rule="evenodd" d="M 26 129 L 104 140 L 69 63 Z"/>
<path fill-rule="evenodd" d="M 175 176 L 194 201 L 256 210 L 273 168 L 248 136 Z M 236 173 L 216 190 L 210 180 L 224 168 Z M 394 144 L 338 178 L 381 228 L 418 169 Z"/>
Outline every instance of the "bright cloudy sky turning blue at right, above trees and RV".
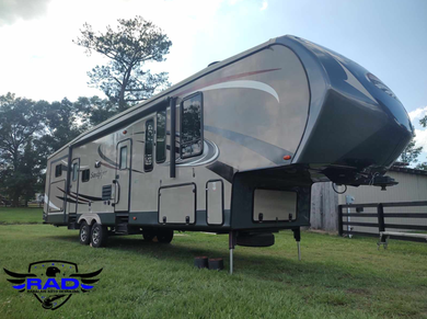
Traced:
<path fill-rule="evenodd" d="M 277 36 L 331 48 L 379 77 L 405 105 L 427 161 L 426 0 L 0 0 L 0 94 L 58 101 L 99 95 L 86 72 L 106 60 L 72 43 L 83 23 L 104 31 L 141 15 L 173 45 L 149 65 L 176 83 Z"/>

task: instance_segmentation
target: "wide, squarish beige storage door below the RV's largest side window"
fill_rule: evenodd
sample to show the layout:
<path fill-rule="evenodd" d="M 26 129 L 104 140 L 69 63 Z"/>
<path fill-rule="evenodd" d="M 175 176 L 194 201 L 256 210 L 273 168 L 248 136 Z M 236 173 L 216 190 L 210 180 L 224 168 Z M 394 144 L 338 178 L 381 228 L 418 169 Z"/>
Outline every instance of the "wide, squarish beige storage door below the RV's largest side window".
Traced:
<path fill-rule="evenodd" d="M 159 189 L 159 223 L 196 223 L 196 184 L 180 184 Z"/>

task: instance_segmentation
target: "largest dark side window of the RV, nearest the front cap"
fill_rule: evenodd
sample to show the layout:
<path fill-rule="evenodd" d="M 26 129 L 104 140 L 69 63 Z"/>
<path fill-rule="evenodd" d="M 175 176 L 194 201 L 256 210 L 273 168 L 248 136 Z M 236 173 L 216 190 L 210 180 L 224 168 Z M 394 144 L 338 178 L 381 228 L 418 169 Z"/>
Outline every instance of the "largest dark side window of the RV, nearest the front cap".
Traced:
<path fill-rule="evenodd" d="M 201 112 L 201 93 L 184 100 L 181 104 L 182 158 L 198 156 L 203 152 Z"/>

